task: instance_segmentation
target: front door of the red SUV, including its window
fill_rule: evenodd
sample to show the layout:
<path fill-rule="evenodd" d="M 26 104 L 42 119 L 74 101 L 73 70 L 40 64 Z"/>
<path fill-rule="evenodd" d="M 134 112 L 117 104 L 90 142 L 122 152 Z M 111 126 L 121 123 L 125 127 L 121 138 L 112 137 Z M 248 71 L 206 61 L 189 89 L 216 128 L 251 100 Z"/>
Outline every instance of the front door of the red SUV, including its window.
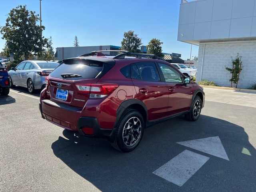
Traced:
<path fill-rule="evenodd" d="M 161 62 L 157 64 L 169 90 L 167 113 L 172 115 L 188 110 L 193 94 L 191 86 L 184 84 L 184 76 L 172 66 Z"/>

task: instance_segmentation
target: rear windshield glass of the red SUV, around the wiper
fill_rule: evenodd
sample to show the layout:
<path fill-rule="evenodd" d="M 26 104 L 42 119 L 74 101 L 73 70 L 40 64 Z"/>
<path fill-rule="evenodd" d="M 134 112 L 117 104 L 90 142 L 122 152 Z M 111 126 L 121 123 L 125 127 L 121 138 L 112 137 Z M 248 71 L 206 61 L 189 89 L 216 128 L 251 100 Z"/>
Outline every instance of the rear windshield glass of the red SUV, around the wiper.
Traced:
<path fill-rule="evenodd" d="M 80 79 L 94 79 L 103 70 L 103 62 L 94 60 L 67 60 L 58 66 L 51 76 L 55 78 L 62 78 L 62 74 L 75 74 L 81 77 L 72 77 L 68 79 L 80 80 Z"/>

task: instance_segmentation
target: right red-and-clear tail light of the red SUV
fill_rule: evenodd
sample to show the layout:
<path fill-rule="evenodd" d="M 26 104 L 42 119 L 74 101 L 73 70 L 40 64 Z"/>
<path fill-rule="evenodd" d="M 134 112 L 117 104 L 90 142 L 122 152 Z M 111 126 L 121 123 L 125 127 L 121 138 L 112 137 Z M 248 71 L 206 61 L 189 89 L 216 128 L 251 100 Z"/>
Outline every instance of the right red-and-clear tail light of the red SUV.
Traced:
<path fill-rule="evenodd" d="M 76 84 L 79 92 L 90 94 L 90 98 L 103 98 L 112 93 L 118 84 Z"/>

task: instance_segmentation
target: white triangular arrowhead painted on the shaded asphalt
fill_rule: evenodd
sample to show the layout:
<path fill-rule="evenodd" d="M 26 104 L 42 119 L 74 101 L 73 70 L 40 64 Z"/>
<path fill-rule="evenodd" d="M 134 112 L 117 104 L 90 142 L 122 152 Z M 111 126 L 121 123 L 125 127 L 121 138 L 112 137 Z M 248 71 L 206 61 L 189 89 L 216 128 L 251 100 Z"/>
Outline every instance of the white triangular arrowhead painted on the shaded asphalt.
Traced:
<path fill-rule="evenodd" d="M 177 143 L 229 161 L 228 155 L 226 154 L 219 136 Z"/>

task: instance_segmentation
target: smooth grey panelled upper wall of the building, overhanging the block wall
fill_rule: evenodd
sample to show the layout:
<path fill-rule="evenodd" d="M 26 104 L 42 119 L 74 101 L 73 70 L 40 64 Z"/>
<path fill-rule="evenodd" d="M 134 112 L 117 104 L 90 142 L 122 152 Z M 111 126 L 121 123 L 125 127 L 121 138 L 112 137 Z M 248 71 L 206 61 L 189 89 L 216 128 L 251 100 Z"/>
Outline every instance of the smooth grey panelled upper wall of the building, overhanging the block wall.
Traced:
<path fill-rule="evenodd" d="M 192 44 L 256 38 L 256 0 L 196 0 L 180 5 L 178 40 Z"/>

